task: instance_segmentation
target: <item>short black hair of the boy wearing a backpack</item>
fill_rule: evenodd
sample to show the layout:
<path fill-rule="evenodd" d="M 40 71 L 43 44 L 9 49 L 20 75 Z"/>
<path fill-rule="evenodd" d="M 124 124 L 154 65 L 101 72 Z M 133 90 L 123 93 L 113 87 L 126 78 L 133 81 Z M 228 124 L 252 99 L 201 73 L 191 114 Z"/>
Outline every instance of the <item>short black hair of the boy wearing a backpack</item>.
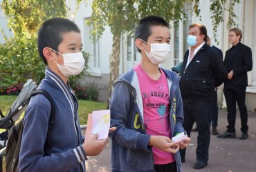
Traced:
<path fill-rule="evenodd" d="M 80 33 L 77 25 L 68 19 L 53 18 L 44 21 L 37 34 L 37 48 L 46 65 L 47 61 L 43 54 L 44 47 L 51 47 L 58 52 L 58 46 L 63 41 L 63 34 L 71 31 Z"/>

